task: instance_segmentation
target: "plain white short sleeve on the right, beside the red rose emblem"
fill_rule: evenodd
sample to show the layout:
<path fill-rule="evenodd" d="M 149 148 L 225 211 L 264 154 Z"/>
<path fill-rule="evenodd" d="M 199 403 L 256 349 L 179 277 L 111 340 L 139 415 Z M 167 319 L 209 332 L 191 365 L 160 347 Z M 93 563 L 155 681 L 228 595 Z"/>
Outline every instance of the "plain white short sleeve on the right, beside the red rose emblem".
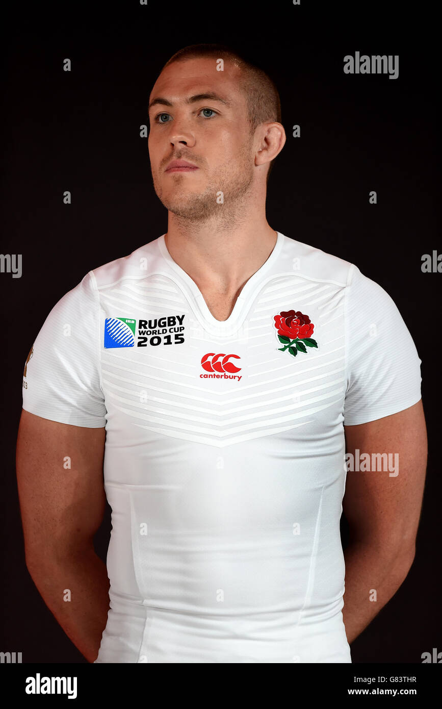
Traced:
<path fill-rule="evenodd" d="M 354 264 L 346 287 L 344 425 L 403 411 L 421 398 L 421 359 L 387 292 Z"/>

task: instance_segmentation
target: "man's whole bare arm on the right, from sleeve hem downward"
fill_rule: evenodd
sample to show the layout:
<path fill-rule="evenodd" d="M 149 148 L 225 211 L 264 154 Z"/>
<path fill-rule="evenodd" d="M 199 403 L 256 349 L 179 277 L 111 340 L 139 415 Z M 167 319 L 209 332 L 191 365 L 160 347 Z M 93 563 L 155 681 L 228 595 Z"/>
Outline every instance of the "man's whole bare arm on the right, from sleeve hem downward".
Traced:
<path fill-rule="evenodd" d="M 344 625 L 352 642 L 395 595 L 412 566 L 426 473 L 422 401 L 376 421 L 345 427 L 346 451 L 398 454 L 397 475 L 348 471 L 344 514 L 350 543 L 344 552 Z M 375 465 L 375 467 L 379 467 Z M 373 590 L 375 594 L 373 593 Z M 370 600 L 375 598 L 376 600 Z"/>

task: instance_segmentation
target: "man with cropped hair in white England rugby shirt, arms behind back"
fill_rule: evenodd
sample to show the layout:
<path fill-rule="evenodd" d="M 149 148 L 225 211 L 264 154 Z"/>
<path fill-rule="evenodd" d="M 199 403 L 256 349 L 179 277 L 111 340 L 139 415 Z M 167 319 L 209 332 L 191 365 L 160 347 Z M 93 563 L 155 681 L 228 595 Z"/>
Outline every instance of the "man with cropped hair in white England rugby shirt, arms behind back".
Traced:
<path fill-rule="evenodd" d="M 351 662 L 414 558 L 416 347 L 356 265 L 268 225 L 285 133 L 266 74 L 185 48 L 149 121 L 167 233 L 86 274 L 26 362 L 28 569 L 90 662 Z M 399 469 L 347 474 L 363 454 Z"/>

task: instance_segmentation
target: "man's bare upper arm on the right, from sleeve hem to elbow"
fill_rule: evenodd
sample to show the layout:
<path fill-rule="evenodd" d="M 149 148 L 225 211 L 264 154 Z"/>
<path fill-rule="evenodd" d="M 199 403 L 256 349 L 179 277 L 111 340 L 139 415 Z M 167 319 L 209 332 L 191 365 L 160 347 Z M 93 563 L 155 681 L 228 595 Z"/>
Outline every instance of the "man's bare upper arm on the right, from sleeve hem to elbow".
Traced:
<path fill-rule="evenodd" d="M 414 549 L 426 473 L 422 401 L 378 420 L 344 426 L 344 430 L 349 455 L 343 510 L 351 538 L 380 548 L 402 544 Z M 356 469 L 358 460 L 363 468 L 363 454 L 368 454 L 366 471 Z M 387 458 L 382 459 L 382 454 Z"/>

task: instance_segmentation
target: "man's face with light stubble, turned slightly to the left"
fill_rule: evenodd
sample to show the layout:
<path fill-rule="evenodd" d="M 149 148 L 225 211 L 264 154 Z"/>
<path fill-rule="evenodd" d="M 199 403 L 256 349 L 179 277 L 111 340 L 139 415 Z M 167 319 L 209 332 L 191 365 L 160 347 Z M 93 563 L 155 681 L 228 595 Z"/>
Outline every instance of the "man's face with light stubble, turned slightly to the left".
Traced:
<path fill-rule="evenodd" d="M 215 59 L 174 62 L 149 97 L 149 157 L 157 196 L 171 212 L 195 221 L 242 199 L 254 180 L 250 134 L 239 69 Z M 203 95 L 212 94 L 203 98 Z M 199 96 L 199 97 L 198 97 Z M 196 98 L 195 98 L 196 97 Z M 167 170 L 172 160 L 196 169 Z"/>

